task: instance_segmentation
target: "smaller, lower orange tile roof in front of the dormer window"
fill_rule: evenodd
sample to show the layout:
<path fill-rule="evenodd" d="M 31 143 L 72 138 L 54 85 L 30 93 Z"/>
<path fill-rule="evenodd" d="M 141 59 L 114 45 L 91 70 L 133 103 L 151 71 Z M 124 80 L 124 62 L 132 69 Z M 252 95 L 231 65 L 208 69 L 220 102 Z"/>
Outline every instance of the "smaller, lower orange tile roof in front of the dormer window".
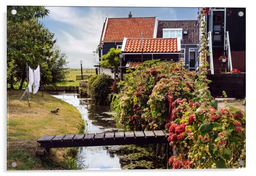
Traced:
<path fill-rule="evenodd" d="M 179 52 L 178 45 L 177 38 L 143 38 L 143 52 Z M 122 52 L 142 52 L 141 38 L 127 38 Z"/>

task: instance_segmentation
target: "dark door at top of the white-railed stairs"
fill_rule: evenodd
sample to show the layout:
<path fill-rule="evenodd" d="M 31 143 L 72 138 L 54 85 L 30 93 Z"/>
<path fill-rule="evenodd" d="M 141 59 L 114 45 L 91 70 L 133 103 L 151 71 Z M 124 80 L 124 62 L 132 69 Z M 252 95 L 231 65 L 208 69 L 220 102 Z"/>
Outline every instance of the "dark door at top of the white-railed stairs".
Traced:
<path fill-rule="evenodd" d="M 224 11 L 213 11 L 213 47 L 224 45 Z"/>

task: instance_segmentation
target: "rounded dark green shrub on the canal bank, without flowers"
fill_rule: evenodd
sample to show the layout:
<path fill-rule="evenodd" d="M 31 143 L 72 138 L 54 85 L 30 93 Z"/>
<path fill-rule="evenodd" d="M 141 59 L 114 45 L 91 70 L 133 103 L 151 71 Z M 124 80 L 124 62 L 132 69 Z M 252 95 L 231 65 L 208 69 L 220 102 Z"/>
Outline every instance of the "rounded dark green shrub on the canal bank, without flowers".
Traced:
<path fill-rule="evenodd" d="M 108 74 L 95 74 L 88 80 L 88 93 L 96 104 L 104 104 L 113 80 Z"/>

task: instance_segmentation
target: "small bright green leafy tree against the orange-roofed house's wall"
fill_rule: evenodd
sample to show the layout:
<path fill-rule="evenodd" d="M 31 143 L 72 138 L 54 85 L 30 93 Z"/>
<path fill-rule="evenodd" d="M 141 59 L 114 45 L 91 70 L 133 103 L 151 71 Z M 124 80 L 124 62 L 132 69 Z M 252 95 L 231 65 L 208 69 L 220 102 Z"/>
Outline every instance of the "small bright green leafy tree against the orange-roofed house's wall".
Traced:
<path fill-rule="evenodd" d="M 117 67 L 120 64 L 119 54 L 121 53 L 120 49 L 111 48 L 109 52 L 105 55 L 102 55 L 100 61 L 100 67 Z"/>

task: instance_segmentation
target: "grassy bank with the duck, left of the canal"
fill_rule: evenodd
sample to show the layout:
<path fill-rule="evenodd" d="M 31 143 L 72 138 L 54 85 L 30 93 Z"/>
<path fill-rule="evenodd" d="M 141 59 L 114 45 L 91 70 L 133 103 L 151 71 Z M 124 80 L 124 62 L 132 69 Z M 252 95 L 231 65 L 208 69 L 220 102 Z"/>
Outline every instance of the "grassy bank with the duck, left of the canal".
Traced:
<path fill-rule="evenodd" d="M 28 107 L 26 98 L 19 100 L 23 91 L 7 92 L 7 170 L 64 169 L 67 149 L 51 149 L 50 155 L 40 159 L 34 155 L 36 140 L 43 135 L 80 132 L 84 123 L 79 111 L 45 92 L 43 97 L 41 92 L 31 95 Z M 52 114 L 57 108 L 58 115 Z"/>

